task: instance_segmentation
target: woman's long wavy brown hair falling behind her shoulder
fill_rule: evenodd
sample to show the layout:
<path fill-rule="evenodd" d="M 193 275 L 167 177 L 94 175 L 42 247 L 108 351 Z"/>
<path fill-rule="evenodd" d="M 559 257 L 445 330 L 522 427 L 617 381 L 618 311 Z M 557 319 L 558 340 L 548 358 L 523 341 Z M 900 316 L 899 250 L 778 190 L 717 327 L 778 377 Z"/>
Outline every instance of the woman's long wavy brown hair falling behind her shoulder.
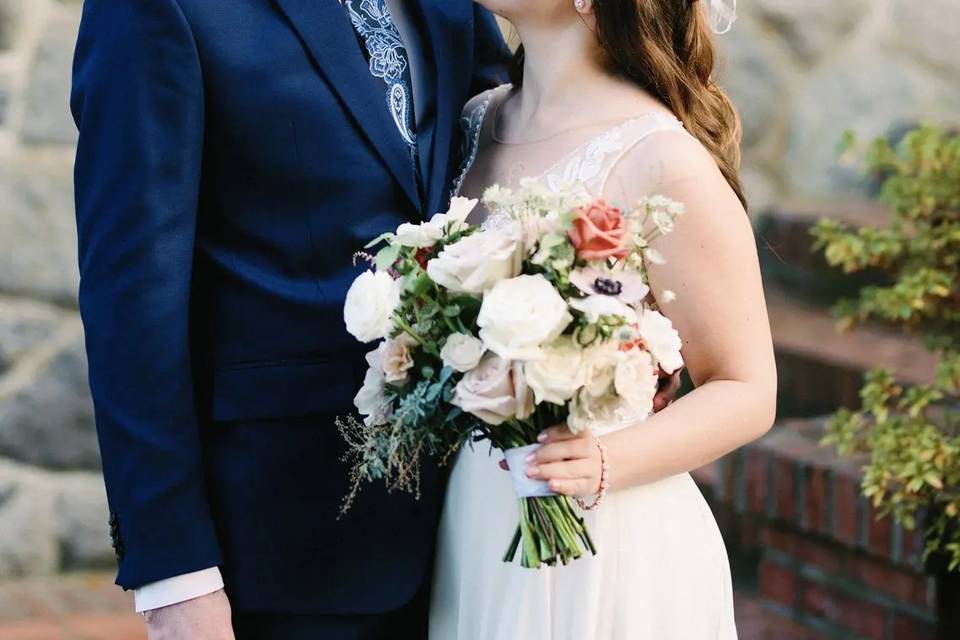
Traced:
<path fill-rule="evenodd" d="M 740 118 L 713 80 L 716 50 L 698 0 L 593 0 L 597 40 L 611 73 L 658 98 L 713 155 L 747 206 L 740 183 Z M 523 47 L 510 69 L 523 84 Z"/>

